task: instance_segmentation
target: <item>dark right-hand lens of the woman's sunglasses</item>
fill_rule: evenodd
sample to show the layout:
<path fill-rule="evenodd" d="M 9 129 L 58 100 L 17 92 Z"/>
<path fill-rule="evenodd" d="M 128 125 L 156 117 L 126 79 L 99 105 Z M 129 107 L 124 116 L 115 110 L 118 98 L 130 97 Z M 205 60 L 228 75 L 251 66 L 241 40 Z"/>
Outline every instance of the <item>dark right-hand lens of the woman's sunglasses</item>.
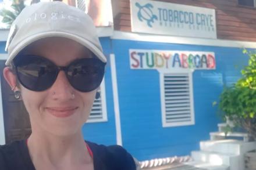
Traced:
<path fill-rule="evenodd" d="M 67 78 L 78 91 L 90 92 L 101 84 L 104 67 L 98 59 L 80 59 L 69 65 Z"/>

